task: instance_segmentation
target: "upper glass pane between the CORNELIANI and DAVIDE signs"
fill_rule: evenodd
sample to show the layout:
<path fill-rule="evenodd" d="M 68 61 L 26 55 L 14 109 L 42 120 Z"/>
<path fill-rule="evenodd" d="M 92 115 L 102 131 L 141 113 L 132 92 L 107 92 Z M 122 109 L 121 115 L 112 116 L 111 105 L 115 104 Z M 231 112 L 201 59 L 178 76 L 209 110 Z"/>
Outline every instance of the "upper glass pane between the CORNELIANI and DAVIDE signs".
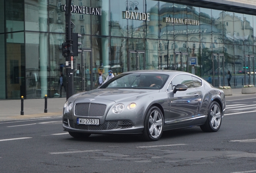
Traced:
<path fill-rule="evenodd" d="M 128 36 L 127 25 L 128 19 L 123 19 L 121 11 L 125 11 L 125 4 L 127 0 L 111 0 L 110 2 L 110 27 L 111 27 L 111 36 Z"/>

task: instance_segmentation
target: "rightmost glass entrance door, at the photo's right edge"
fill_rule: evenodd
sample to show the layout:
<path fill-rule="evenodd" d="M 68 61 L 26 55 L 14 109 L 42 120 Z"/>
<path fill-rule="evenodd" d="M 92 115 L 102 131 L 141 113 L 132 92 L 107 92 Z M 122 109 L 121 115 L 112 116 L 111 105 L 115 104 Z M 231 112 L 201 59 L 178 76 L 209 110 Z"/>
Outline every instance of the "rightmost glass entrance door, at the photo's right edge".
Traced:
<path fill-rule="evenodd" d="M 245 55 L 245 82 L 244 84 L 254 84 L 254 55 Z"/>

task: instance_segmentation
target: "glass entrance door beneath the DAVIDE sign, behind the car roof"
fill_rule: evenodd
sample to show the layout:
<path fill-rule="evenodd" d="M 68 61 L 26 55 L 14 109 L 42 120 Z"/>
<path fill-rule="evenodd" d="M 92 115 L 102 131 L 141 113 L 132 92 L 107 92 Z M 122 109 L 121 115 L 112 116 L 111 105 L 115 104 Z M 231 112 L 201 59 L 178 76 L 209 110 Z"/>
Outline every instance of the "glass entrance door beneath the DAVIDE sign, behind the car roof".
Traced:
<path fill-rule="evenodd" d="M 145 70 L 145 51 L 144 50 L 129 50 L 129 65 L 128 71 Z"/>

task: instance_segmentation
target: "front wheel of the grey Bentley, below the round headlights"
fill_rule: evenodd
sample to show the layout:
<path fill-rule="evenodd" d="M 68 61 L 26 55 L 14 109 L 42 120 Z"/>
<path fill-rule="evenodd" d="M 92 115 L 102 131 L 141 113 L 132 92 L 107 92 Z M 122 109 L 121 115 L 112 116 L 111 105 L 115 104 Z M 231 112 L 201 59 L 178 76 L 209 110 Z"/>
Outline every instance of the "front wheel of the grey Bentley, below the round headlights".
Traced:
<path fill-rule="evenodd" d="M 158 107 L 152 106 L 144 120 L 142 138 L 145 141 L 157 141 L 163 133 L 163 114 Z"/>

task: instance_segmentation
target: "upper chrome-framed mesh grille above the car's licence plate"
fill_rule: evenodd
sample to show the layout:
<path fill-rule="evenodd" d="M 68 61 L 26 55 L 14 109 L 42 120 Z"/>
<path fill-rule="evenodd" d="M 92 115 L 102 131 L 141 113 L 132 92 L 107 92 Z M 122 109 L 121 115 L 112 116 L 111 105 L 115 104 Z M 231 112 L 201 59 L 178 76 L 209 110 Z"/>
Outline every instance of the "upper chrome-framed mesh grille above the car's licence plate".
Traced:
<path fill-rule="evenodd" d="M 76 116 L 103 117 L 107 105 L 98 103 L 77 103 L 74 107 Z"/>

